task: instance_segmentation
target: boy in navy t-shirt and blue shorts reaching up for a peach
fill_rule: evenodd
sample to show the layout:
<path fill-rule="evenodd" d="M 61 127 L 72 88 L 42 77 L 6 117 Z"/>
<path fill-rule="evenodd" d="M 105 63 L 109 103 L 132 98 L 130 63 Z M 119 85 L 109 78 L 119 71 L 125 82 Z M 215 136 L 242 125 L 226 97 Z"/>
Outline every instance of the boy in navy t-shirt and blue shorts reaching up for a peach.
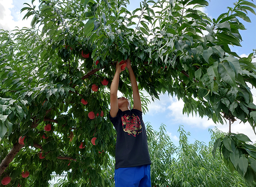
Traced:
<path fill-rule="evenodd" d="M 127 68 L 131 79 L 134 107 L 124 97 L 117 98 L 119 75 L 124 69 L 116 63 L 116 73 L 110 87 L 110 120 L 116 131 L 116 187 L 151 187 L 148 142 L 145 125 L 142 120 L 142 108 L 138 85 L 131 68 L 130 59 Z"/>

